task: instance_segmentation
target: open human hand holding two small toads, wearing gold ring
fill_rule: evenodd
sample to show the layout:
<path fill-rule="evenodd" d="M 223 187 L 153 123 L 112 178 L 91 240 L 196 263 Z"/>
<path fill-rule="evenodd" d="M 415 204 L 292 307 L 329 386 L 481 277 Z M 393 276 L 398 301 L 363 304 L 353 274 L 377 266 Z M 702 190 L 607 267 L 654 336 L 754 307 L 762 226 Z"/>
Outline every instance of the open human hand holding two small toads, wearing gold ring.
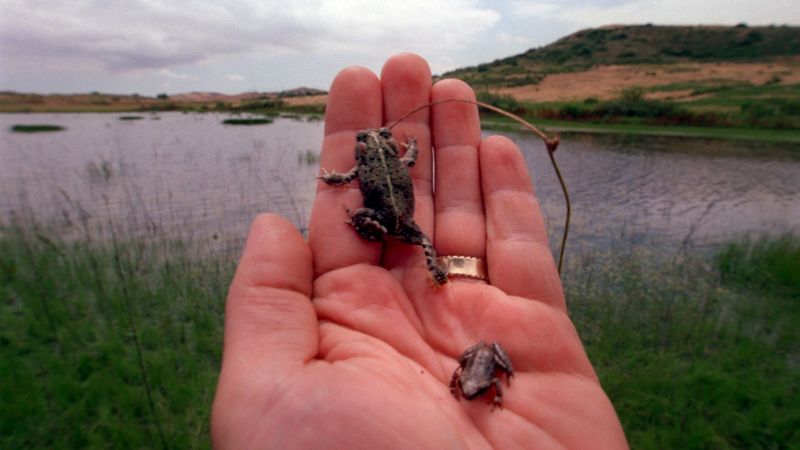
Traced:
<path fill-rule="evenodd" d="M 416 55 L 390 58 L 380 79 L 343 70 L 322 167 L 347 171 L 357 131 L 446 98 L 474 93 L 457 80 L 431 86 Z M 361 206 L 356 183 L 319 184 L 308 242 L 285 219 L 260 216 L 228 294 L 214 446 L 626 448 L 567 316 L 519 150 L 481 139 L 466 103 L 420 110 L 393 134 L 419 143 L 416 222 L 440 255 L 484 259 L 489 281 L 433 288 L 420 247 L 362 240 L 346 223 Z M 502 408 L 491 395 L 450 393 L 459 356 L 479 341 L 500 342 L 514 365 Z"/>

